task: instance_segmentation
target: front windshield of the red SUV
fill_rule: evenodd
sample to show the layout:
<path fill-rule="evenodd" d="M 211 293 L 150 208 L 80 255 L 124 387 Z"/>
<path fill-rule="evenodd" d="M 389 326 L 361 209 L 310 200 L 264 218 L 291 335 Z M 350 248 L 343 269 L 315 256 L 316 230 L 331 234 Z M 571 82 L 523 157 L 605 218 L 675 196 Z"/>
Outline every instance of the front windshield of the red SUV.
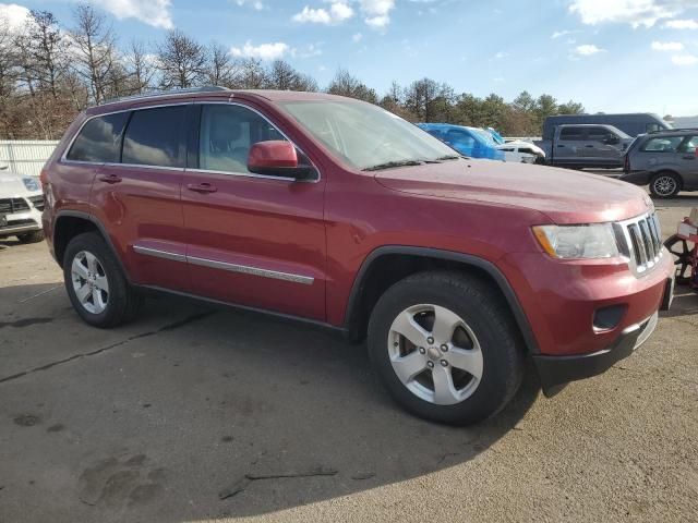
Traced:
<path fill-rule="evenodd" d="M 457 151 L 429 133 L 370 104 L 318 100 L 279 105 L 332 153 L 357 169 L 458 158 Z"/>

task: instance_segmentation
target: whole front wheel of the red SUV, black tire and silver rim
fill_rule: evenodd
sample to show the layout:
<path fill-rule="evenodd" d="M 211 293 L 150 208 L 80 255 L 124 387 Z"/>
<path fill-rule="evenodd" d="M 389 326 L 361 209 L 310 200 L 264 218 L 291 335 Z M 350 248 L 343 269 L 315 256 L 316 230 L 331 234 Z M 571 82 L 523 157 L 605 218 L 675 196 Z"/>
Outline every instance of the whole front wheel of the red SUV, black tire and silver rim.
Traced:
<path fill-rule="evenodd" d="M 467 425 L 500 412 L 524 375 L 520 336 L 488 283 L 422 272 L 378 300 L 369 353 L 389 393 L 413 414 Z"/>

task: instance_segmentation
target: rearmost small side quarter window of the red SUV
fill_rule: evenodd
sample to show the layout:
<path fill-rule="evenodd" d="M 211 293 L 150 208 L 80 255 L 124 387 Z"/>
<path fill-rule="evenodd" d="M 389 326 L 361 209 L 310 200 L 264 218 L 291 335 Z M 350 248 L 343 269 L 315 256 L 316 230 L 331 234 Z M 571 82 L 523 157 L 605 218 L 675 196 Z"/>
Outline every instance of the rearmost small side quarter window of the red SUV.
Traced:
<path fill-rule="evenodd" d="M 83 125 L 65 158 L 72 161 L 118 162 L 121 133 L 128 117 L 128 112 L 117 112 L 93 118 Z"/>

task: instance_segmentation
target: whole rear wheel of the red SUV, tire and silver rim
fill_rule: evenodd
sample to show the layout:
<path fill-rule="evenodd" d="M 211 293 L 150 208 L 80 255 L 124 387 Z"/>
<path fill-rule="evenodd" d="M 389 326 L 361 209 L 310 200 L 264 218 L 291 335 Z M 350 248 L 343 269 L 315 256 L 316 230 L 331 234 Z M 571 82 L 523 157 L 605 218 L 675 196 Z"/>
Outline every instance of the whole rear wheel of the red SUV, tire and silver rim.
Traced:
<path fill-rule="evenodd" d="M 63 277 L 73 307 L 92 326 L 116 327 L 137 313 L 141 296 L 129 285 L 116 256 L 95 232 L 70 241 L 63 257 Z"/>

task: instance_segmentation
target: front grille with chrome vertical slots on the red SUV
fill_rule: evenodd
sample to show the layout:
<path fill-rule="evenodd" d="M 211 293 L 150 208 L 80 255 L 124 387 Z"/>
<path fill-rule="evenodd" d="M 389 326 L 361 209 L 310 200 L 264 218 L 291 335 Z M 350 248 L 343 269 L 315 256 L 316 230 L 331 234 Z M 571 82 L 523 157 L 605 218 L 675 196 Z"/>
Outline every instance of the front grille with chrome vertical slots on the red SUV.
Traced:
<path fill-rule="evenodd" d="M 619 233 L 622 250 L 630 259 L 630 267 L 636 275 L 647 272 L 662 257 L 662 233 L 657 214 L 619 223 Z"/>

